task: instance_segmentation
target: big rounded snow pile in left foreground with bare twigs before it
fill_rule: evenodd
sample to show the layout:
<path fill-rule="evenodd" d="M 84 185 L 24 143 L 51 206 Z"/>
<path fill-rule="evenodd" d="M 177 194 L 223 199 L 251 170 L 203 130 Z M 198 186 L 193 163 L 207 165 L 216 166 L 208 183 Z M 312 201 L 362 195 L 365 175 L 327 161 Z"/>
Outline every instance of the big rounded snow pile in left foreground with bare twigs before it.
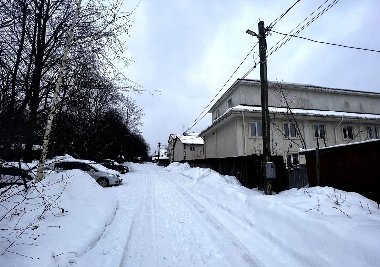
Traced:
<path fill-rule="evenodd" d="M 28 228 L 25 231 L 0 231 L 0 255 L 4 253 L 0 262 L 4 267 L 57 266 L 57 261 L 59 266 L 67 266 L 70 261 L 76 262 L 77 257 L 87 253 L 99 241 L 117 210 L 117 198 L 79 170 L 51 172 L 35 185 L 27 194 L 21 192 L 6 201 L 0 198 L 2 217 L 26 197 L 17 206 L 17 211 L 11 212 L 13 216 L 0 221 L 0 229 Z M 22 186 L 14 190 L 19 188 Z M 7 192 L 7 195 L 11 193 Z M 43 200 L 50 205 L 50 210 L 41 205 Z M 19 239 L 15 244 L 20 245 L 13 245 L 4 252 L 17 236 Z M 54 257 L 56 255 L 59 256 Z"/>

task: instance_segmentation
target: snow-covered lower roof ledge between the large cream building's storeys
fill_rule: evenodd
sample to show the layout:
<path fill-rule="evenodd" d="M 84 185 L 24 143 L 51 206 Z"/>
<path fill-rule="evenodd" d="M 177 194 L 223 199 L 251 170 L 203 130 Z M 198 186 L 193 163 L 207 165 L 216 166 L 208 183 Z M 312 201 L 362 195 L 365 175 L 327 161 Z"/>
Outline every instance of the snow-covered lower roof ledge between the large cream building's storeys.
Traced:
<path fill-rule="evenodd" d="M 242 110 L 242 111 L 260 111 L 261 106 L 234 106 L 230 109 L 227 109 L 222 116 L 216 118 L 212 123 L 217 122 L 225 114 L 232 110 Z M 269 107 L 269 112 L 274 113 L 289 113 L 289 109 L 285 107 Z M 364 119 L 373 119 L 379 120 L 380 114 L 364 114 L 364 113 L 355 113 L 355 112 L 342 112 L 342 111 L 323 111 L 323 110 L 312 110 L 312 109 L 291 109 L 293 114 L 301 115 L 315 115 L 315 116 L 328 116 L 328 117 L 354 117 L 354 118 L 364 118 Z"/>

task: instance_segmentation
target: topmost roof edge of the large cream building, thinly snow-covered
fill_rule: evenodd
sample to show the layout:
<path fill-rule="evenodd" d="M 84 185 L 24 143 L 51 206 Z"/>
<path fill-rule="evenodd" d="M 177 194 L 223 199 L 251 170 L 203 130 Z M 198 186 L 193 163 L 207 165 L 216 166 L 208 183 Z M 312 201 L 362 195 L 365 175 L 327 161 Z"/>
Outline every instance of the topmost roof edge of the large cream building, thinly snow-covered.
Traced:
<path fill-rule="evenodd" d="M 253 85 L 253 86 L 260 86 L 260 80 L 256 79 L 237 79 L 233 85 L 231 85 L 230 88 L 215 102 L 215 104 L 209 109 L 209 113 L 212 113 L 215 111 L 215 108 L 228 96 L 231 95 L 233 90 L 241 85 Z M 279 82 L 276 81 L 268 81 L 268 87 L 278 87 Z M 331 87 L 323 87 L 318 85 L 312 85 L 312 84 L 294 84 L 290 82 L 280 82 L 281 86 L 286 89 L 295 89 L 295 90 L 304 90 L 304 91 L 319 91 L 319 92 L 330 92 L 330 93 L 338 93 L 338 94 L 345 94 L 345 95 L 363 95 L 363 96 L 374 96 L 374 97 L 380 97 L 380 93 L 376 92 L 366 92 L 366 91 L 356 91 L 356 90 L 349 90 L 349 89 L 342 89 L 342 88 L 331 88 Z"/>

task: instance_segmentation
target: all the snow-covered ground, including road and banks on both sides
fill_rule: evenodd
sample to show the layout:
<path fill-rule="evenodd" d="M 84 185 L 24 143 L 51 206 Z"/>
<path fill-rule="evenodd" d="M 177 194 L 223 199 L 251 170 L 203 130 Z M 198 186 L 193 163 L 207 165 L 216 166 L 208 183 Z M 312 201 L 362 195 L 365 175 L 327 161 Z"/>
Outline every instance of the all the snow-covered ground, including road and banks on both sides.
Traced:
<path fill-rule="evenodd" d="M 47 175 L 43 183 L 50 183 L 52 196 L 66 186 L 59 198 L 64 213 L 46 213 L 39 223 L 61 227 L 29 230 L 40 235 L 24 241 L 33 245 L 16 245 L 11 251 L 34 259 L 5 252 L 0 265 L 303 267 L 380 262 L 380 211 L 359 194 L 314 187 L 266 196 L 232 176 L 188 164 L 128 166 L 131 172 L 122 175 L 123 184 L 111 188 L 101 188 L 76 170 Z M 68 183 L 55 183 L 62 179 Z M 18 225 L 40 212 L 26 213 Z M 19 217 L 6 224 L 14 226 Z M 0 228 L 4 224 L 0 221 Z M 9 232 L 0 231 L 0 242 L 14 237 Z M 0 245 L 0 254 L 4 247 Z"/>

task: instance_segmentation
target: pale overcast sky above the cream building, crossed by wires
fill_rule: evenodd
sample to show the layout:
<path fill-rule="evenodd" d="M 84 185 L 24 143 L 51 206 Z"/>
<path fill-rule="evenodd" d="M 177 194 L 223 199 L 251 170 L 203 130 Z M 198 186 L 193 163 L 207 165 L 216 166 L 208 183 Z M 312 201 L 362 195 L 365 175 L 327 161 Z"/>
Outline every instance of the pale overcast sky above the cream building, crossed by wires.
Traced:
<path fill-rule="evenodd" d="M 301 0 L 273 28 L 288 33 L 326 0 Z M 141 0 L 125 38 L 131 63 L 125 74 L 154 95 L 131 95 L 144 108 L 142 134 L 152 153 L 169 134 L 181 134 L 222 88 L 257 42 L 259 19 L 268 25 L 295 0 Z M 328 0 L 327 6 L 333 0 Z M 131 11 L 137 1 L 124 3 Z M 378 0 L 341 0 L 299 36 L 380 50 Z M 316 14 L 316 13 L 315 13 Z M 268 36 L 268 49 L 282 38 Z M 258 52 L 258 47 L 255 48 Z M 255 56 L 256 57 L 256 56 Z M 254 64 L 245 60 L 215 101 Z M 380 53 L 291 39 L 268 57 L 268 79 L 380 92 Z M 260 79 L 256 68 L 247 79 Z M 211 107 L 211 106 L 210 106 Z M 207 108 L 208 111 L 209 108 Z M 211 124 L 211 115 L 191 131 Z"/>

